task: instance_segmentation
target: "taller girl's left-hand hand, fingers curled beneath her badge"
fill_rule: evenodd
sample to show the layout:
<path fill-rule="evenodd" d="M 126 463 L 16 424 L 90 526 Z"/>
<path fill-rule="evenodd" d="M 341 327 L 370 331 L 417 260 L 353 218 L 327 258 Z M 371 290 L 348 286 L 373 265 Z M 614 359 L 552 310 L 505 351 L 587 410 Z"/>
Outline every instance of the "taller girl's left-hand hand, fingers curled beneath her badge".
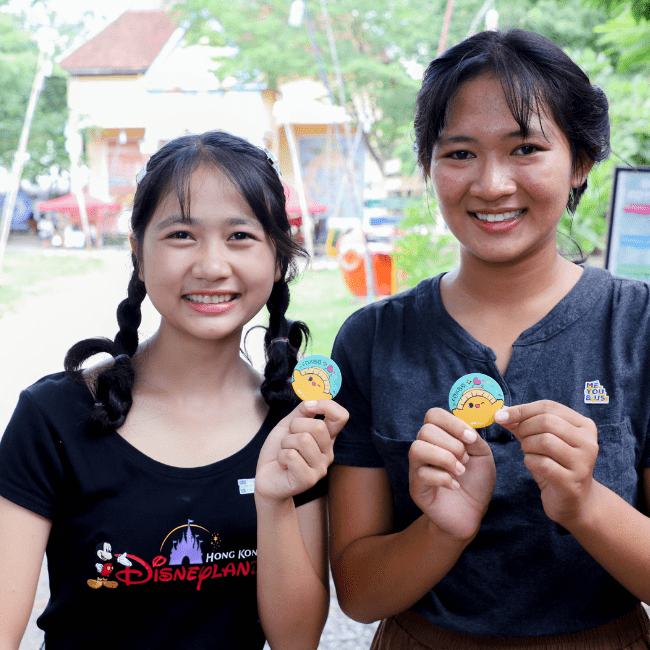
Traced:
<path fill-rule="evenodd" d="M 427 411 L 409 451 L 409 492 L 440 530 L 458 539 L 478 532 L 492 499 L 492 450 L 474 429 L 448 411 Z"/>

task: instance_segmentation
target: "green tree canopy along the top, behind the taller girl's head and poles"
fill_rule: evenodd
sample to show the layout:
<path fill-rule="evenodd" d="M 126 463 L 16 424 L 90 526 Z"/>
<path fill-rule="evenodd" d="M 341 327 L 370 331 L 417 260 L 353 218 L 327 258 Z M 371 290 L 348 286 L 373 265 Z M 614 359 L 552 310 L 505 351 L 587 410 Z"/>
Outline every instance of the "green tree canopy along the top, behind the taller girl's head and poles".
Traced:
<path fill-rule="evenodd" d="M 348 112 L 366 112 L 373 127 L 367 145 L 377 160 L 400 157 L 404 172 L 415 171 L 413 109 L 420 85 L 407 70 L 426 66 L 437 54 L 447 0 L 374 0 L 328 2 L 330 24 L 345 78 Z M 456 0 L 446 41 L 464 39 L 483 3 Z M 321 2 L 309 0 L 318 49 L 336 95 L 333 66 Z M 291 0 L 187 0 L 177 9 L 189 20 L 190 39 L 231 46 L 237 54 L 223 59 L 222 78 L 261 82 L 277 88 L 282 80 L 319 78 L 305 24 L 288 23 Z M 606 19 L 603 10 L 581 0 L 523 0 L 499 4 L 503 27 L 537 31 L 562 46 L 596 47 L 593 27 Z M 481 29 L 482 21 L 476 21 Z"/>

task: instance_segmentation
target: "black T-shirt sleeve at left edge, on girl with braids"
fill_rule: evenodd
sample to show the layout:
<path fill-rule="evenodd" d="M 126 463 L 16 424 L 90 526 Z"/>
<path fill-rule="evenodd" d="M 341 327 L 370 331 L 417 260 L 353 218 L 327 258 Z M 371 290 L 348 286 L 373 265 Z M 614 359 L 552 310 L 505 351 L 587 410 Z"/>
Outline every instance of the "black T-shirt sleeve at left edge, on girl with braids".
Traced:
<path fill-rule="evenodd" d="M 0 495 L 52 519 L 63 491 L 61 443 L 28 391 L 0 439 Z"/>

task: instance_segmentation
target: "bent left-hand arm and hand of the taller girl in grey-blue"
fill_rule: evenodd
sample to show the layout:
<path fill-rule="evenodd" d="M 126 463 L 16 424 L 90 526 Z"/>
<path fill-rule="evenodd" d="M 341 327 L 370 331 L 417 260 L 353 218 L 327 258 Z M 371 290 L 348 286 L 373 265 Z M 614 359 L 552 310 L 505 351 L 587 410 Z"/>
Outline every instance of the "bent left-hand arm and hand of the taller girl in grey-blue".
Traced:
<path fill-rule="evenodd" d="M 489 446 L 442 409 L 427 413 L 409 463 L 410 494 L 424 514 L 398 533 L 391 532 L 385 470 L 330 470 L 332 575 L 341 608 L 357 621 L 402 612 L 442 580 L 478 532 L 492 498 Z"/>

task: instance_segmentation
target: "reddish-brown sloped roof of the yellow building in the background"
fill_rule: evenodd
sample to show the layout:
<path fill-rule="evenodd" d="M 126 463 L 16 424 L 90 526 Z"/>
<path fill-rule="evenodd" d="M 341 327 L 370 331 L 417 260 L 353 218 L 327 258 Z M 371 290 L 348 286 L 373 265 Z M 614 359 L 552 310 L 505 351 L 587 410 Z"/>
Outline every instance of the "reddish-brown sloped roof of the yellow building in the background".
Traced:
<path fill-rule="evenodd" d="M 60 66 L 74 76 L 141 74 L 176 29 L 164 11 L 127 11 Z"/>

